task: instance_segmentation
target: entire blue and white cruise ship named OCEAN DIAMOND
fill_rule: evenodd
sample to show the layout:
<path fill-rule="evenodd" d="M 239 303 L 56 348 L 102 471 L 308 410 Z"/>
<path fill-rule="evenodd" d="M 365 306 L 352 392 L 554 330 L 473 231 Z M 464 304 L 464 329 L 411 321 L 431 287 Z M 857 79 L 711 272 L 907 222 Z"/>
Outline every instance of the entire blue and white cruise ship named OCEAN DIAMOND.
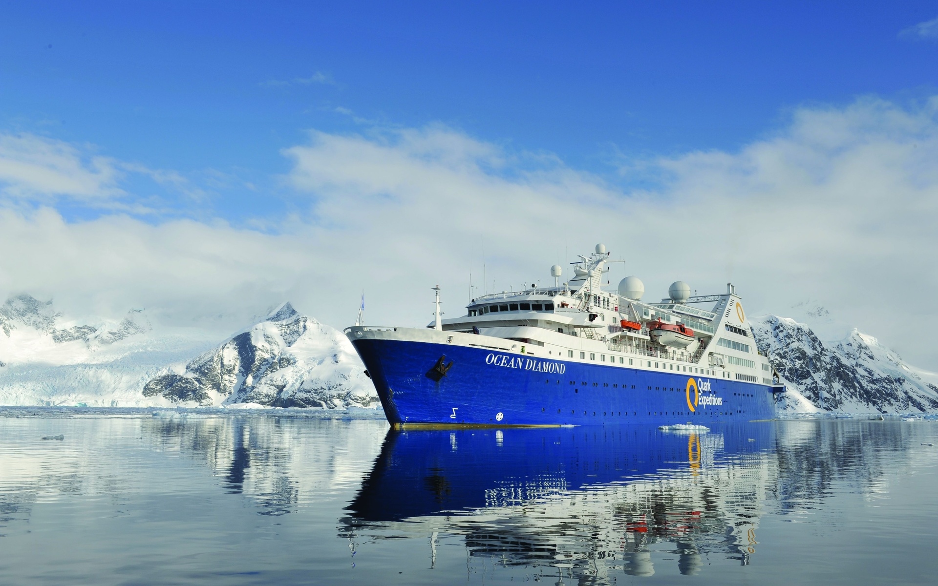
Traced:
<path fill-rule="evenodd" d="M 784 392 L 756 347 L 733 284 L 659 303 L 627 277 L 603 289 L 606 247 L 552 287 L 485 294 L 426 327 L 345 329 L 395 428 L 686 425 L 775 416 Z M 607 283 L 609 281 L 606 281 Z"/>

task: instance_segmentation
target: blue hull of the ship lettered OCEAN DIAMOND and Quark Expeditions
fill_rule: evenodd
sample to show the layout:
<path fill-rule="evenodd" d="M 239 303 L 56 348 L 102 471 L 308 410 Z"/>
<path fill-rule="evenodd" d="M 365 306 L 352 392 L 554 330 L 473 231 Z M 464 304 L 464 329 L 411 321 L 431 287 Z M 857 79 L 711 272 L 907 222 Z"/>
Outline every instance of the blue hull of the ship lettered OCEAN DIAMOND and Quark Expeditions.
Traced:
<path fill-rule="evenodd" d="M 775 416 L 764 384 L 456 344 L 352 341 L 396 427 L 708 425 Z"/>

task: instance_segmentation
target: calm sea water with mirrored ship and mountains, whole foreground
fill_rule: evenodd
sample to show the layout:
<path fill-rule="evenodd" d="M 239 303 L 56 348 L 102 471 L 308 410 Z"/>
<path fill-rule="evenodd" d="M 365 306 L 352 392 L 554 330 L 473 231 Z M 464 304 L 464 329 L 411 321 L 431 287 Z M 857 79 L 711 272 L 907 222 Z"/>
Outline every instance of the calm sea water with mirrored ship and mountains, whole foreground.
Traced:
<path fill-rule="evenodd" d="M 936 422 L 0 415 L 8 584 L 938 581 Z"/>

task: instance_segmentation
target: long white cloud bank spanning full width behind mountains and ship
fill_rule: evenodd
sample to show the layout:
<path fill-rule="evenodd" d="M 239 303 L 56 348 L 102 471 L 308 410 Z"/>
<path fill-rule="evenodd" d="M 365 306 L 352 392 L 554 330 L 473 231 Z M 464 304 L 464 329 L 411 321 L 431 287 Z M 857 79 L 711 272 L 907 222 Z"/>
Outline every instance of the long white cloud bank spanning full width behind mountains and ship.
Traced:
<path fill-rule="evenodd" d="M 750 314 L 812 300 L 840 322 L 936 368 L 938 98 L 903 109 L 874 99 L 806 108 L 735 153 L 629 165 L 666 177 L 625 193 L 556 158 L 509 153 L 451 128 L 310 133 L 284 151 L 284 180 L 312 202 L 279 233 L 132 218 L 63 222 L 52 210 L 0 214 L 0 293 L 54 295 L 80 311 L 147 306 L 174 323 L 234 329 L 289 298 L 326 323 L 428 323 L 430 288 L 461 313 L 468 274 L 497 291 L 540 280 L 604 242 L 648 298 L 678 278 L 700 293 L 733 281 Z"/>

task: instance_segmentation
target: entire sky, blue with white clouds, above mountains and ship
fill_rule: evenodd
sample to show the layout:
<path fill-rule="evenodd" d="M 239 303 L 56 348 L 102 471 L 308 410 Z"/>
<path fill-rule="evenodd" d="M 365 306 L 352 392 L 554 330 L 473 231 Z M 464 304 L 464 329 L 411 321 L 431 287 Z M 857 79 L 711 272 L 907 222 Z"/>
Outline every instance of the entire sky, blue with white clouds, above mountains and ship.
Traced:
<path fill-rule="evenodd" d="M 8 3 L 0 293 L 419 323 L 603 240 L 938 368 L 844 294 L 938 287 L 936 84 L 935 2 Z"/>

